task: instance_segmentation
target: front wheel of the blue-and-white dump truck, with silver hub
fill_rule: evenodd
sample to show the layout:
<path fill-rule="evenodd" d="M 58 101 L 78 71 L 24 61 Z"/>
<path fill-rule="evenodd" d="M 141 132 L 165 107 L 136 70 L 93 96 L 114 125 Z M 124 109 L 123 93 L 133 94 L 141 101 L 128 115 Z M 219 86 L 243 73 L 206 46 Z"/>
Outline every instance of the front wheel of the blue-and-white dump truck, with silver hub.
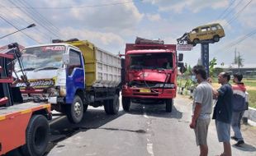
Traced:
<path fill-rule="evenodd" d="M 78 95 L 74 97 L 72 104 L 67 105 L 67 109 L 67 117 L 69 122 L 81 122 L 83 118 L 83 101 Z"/>

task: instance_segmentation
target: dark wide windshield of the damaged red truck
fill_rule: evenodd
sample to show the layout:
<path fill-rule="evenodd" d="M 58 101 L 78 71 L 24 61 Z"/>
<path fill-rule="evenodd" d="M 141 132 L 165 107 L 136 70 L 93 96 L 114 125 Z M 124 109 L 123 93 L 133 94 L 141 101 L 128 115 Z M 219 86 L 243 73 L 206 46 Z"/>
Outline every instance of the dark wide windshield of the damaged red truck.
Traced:
<path fill-rule="evenodd" d="M 131 69 L 172 69 L 173 55 L 172 53 L 145 53 L 130 55 Z"/>

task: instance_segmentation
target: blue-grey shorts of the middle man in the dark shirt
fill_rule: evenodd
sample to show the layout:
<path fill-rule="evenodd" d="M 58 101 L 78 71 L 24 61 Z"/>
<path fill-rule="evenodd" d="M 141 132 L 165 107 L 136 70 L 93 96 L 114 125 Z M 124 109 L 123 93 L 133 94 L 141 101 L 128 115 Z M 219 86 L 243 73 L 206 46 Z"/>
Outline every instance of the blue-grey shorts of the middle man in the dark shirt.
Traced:
<path fill-rule="evenodd" d="M 230 123 L 216 120 L 216 131 L 219 142 L 230 142 Z"/>

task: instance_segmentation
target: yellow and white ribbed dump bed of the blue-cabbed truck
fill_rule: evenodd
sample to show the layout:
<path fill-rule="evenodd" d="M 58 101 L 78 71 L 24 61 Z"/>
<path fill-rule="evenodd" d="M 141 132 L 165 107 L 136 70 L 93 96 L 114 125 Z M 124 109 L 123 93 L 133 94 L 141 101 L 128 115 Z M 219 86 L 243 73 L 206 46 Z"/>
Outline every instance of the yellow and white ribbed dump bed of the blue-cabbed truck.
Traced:
<path fill-rule="evenodd" d="M 121 57 L 97 48 L 88 41 L 67 42 L 78 47 L 85 60 L 85 80 L 88 87 L 116 87 L 121 83 Z"/>

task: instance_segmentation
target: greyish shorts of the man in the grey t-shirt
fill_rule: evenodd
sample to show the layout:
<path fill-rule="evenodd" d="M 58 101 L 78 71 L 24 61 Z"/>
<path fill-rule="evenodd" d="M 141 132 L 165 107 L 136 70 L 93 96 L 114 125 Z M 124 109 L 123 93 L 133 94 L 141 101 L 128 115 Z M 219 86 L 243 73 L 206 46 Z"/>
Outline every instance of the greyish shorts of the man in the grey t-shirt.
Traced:
<path fill-rule="evenodd" d="M 207 132 L 211 118 L 197 119 L 195 134 L 197 145 L 207 145 Z"/>

